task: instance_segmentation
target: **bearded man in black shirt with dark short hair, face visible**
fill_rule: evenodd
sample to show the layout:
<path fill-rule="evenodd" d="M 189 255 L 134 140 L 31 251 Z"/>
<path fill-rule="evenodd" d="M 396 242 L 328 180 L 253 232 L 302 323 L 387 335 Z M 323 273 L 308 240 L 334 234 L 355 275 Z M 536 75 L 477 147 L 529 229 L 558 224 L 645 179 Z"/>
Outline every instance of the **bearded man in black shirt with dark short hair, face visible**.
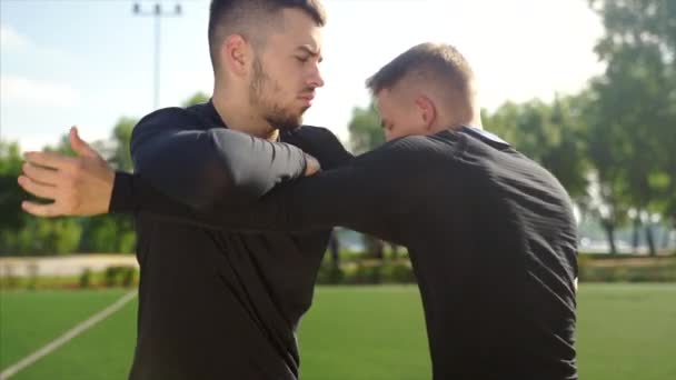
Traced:
<path fill-rule="evenodd" d="M 295 130 L 324 86 L 325 19 L 318 0 L 212 0 L 212 98 L 142 118 L 131 137 L 136 173 L 205 210 L 216 194 L 221 206 L 250 203 L 319 163 L 349 158 L 328 130 Z M 79 167 L 64 164 L 60 173 Z M 47 179 L 28 181 L 53 189 Z M 136 226 L 141 279 L 130 379 L 298 378 L 295 331 L 330 229 L 243 234 L 146 214 Z"/>

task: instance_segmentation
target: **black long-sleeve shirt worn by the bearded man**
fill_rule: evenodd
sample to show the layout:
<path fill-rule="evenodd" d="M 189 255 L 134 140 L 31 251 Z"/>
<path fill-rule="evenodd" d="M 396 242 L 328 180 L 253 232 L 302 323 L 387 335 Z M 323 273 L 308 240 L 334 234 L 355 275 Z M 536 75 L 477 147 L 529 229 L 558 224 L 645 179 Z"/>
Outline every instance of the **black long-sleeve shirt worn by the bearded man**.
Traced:
<path fill-rule="evenodd" d="M 296 148 L 225 127 L 211 102 L 147 116 L 131 138 L 136 176 L 205 212 L 241 208 L 302 176 L 304 150 L 325 168 L 351 157 L 321 128 L 284 133 Z M 141 281 L 130 379 L 298 378 L 295 330 L 328 229 L 243 234 L 147 213 L 136 224 Z"/>

